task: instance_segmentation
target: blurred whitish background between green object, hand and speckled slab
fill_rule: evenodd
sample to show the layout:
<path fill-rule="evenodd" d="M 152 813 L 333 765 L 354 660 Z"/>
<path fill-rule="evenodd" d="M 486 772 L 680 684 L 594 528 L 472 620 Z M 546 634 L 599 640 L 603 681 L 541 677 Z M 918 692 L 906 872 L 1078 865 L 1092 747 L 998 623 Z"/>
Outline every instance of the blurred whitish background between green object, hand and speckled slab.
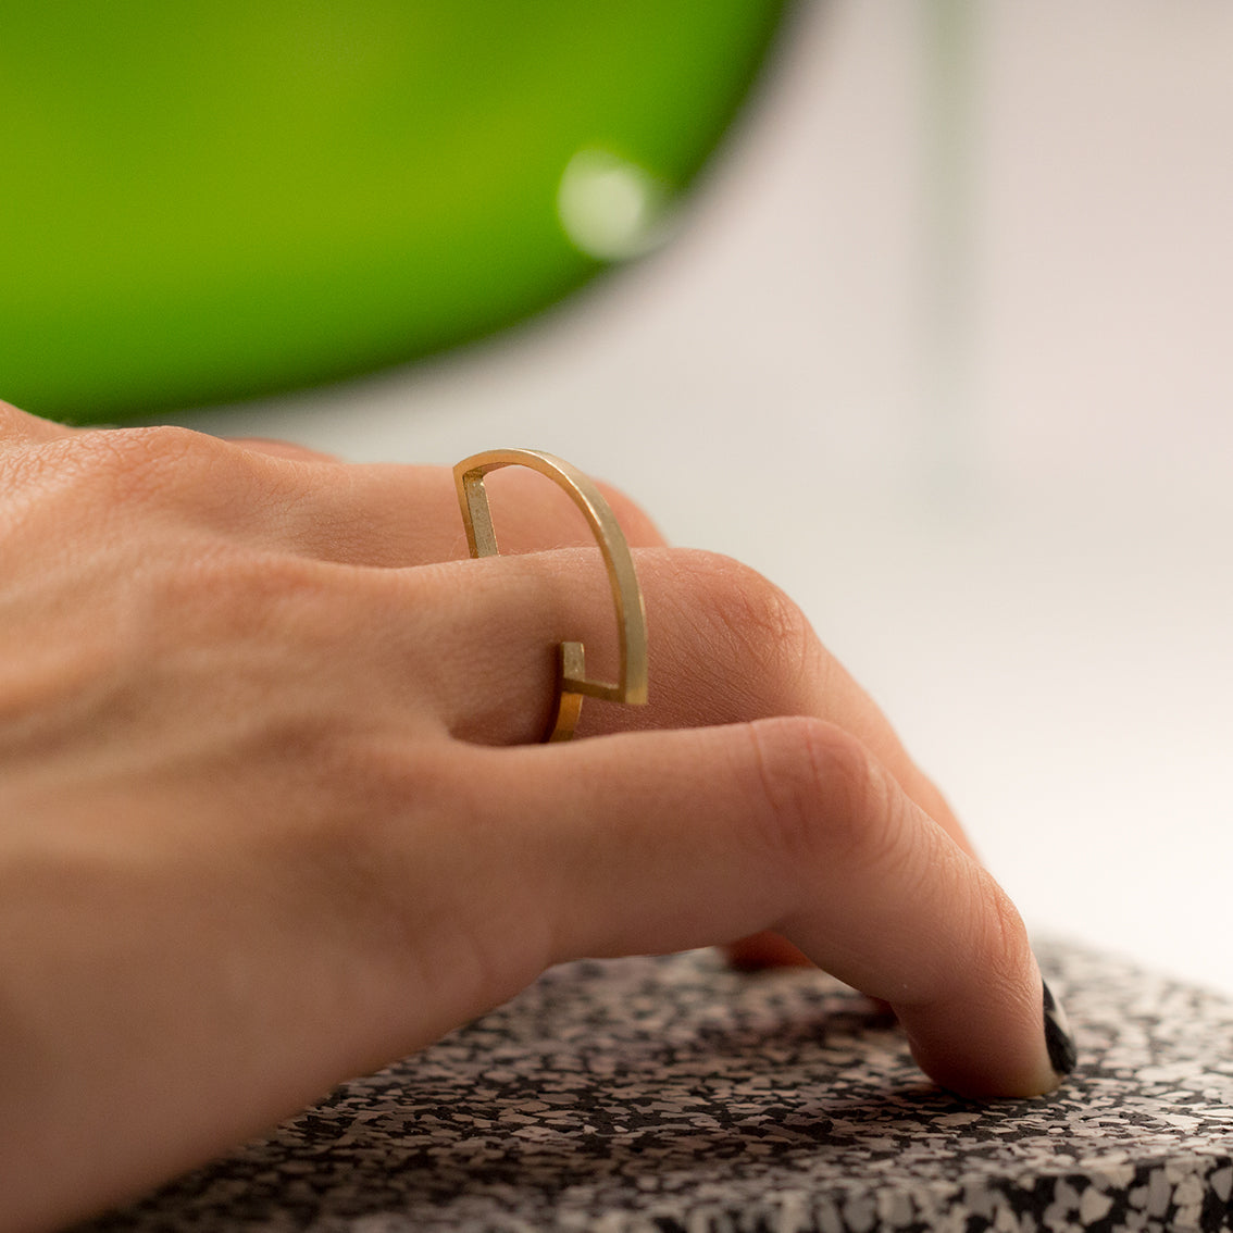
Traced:
<path fill-rule="evenodd" d="M 497 340 L 181 419 L 620 485 L 801 603 L 1034 928 L 1233 993 L 1233 6 L 806 6 L 683 223 Z"/>

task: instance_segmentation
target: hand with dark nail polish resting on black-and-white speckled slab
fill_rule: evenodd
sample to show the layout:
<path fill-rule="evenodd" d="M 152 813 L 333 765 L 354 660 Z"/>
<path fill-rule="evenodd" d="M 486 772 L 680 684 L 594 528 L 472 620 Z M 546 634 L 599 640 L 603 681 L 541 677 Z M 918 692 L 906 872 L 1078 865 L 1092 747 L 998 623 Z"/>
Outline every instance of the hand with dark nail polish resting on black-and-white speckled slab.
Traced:
<path fill-rule="evenodd" d="M 1023 926 L 877 708 L 616 493 L 651 704 L 544 746 L 556 645 L 605 671 L 613 616 L 539 476 L 490 478 L 480 561 L 440 469 L 0 404 L 0 1226 L 197 1164 L 550 964 L 761 930 L 938 1083 L 1058 1083 Z"/>

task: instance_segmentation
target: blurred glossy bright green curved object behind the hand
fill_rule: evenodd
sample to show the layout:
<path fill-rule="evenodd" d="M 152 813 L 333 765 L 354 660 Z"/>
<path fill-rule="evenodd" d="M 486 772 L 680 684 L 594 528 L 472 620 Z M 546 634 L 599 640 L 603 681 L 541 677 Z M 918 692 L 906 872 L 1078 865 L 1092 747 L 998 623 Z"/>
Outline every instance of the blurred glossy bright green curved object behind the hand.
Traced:
<path fill-rule="evenodd" d="M 490 333 L 651 247 L 764 0 L 9 0 L 0 397 L 76 422 Z"/>

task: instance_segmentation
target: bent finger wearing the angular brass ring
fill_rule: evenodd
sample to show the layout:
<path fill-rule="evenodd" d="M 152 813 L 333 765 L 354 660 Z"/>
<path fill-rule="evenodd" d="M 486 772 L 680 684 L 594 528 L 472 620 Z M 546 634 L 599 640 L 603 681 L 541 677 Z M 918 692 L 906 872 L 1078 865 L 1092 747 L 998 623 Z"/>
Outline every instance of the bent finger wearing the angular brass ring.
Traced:
<path fill-rule="evenodd" d="M 636 554 L 646 602 L 650 703 L 588 702 L 580 735 L 809 715 L 851 732 L 961 847 L 949 805 L 905 751 L 869 695 L 822 646 L 800 609 L 755 571 L 708 552 Z M 547 731 L 556 647 L 578 640 L 588 672 L 615 679 L 612 594 L 596 552 L 475 561 L 423 580 L 419 609 L 453 642 L 449 671 L 423 665 L 443 723 L 485 743 L 524 743 Z M 451 636 L 446 636 L 446 630 Z M 435 684 L 434 684 L 435 682 Z"/>

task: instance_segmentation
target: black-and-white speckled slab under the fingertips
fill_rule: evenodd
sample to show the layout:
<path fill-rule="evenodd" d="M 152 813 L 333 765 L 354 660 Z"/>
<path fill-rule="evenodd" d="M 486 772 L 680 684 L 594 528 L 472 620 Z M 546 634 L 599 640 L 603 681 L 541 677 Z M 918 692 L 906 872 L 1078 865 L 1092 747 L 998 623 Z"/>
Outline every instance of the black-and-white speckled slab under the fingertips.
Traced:
<path fill-rule="evenodd" d="M 84 1226 L 318 1233 L 1233 1228 L 1233 1002 L 1041 946 L 1080 1064 L 974 1105 L 816 972 L 577 963 Z"/>

